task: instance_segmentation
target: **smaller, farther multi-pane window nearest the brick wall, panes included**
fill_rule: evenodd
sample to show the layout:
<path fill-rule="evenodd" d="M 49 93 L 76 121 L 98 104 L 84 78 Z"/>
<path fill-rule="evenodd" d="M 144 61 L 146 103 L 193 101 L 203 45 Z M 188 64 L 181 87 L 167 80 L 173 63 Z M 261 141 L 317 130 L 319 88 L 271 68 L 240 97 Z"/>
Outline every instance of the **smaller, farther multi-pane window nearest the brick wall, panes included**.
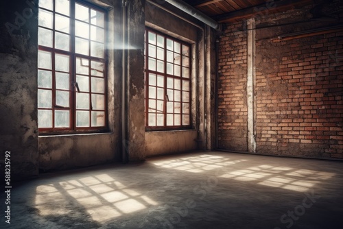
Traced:
<path fill-rule="evenodd" d="M 145 126 L 147 130 L 191 127 L 189 44 L 145 30 Z"/>

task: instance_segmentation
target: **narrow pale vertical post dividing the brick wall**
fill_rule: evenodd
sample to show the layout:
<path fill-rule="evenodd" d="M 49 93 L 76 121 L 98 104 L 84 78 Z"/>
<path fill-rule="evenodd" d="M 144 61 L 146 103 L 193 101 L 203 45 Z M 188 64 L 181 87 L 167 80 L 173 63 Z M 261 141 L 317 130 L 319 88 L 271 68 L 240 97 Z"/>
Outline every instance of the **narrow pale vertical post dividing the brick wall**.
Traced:
<path fill-rule="evenodd" d="M 248 72 L 247 72 L 247 105 L 248 105 L 248 152 L 256 152 L 255 141 L 255 19 L 248 20 Z"/>

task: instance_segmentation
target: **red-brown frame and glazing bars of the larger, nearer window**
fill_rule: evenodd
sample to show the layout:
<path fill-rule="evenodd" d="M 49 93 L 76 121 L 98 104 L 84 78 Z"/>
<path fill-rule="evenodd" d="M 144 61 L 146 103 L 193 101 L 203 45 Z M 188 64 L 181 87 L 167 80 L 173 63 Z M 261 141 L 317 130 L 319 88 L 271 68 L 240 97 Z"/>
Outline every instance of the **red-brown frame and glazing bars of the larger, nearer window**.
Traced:
<path fill-rule="evenodd" d="M 97 133 L 97 132 L 107 132 L 108 131 L 108 10 L 106 10 L 105 8 L 102 8 L 98 5 L 95 5 L 93 3 L 89 3 L 88 1 L 82 1 L 82 0 L 69 0 L 69 32 L 65 32 L 64 34 L 69 34 L 69 51 L 65 51 L 63 49 L 58 49 L 55 46 L 55 34 L 56 32 L 61 33 L 61 31 L 59 31 L 58 29 L 56 29 L 56 25 L 55 25 L 55 21 L 56 21 L 56 14 L 57 15 L 63 15 L 60 12 L 56 12 L 56 4 L 55 4 L 56 0 L 52 0 L 52 10 L 49 10 L 47 8 L 41 8 L 39 5 L 39 9 L 48 11 L 52 13 L 52 27 L 44 27 L 43 25 L 38 25 L 39 27 L 42 27 L 43 29 L 49 29 L 52 32 L 52 45 L 51 47 L 47 47 L 44 45 L 38 45 L 38 53 L 39 51 L 48 51 L 49 53 L 51 53 L 51 69 L 49 69 L 49 71 L 51 71 L 51 80 L 52 80 L 52 85 L 51 88 L 48 88 L 49 90 L 52 91 L 52 99 L 51 99 L 51 108 L 38 108 L 38 110 L 51 110 L 51 128 L 39 128 L 38 127 L 38 133 L 42 134 L 42 135 L 56 135 L 56 134 L 80 134 L 80 133 Z M 97 12 L 102 12 L 104 14 L 104 27 L 102 27 L 104 29 L 104 56 L 103 58 L 99 58 L 96 56 L 91 56 L 91 30 L 89 30 L 89 35 L 88 35 L 88 56 L 84 55 L 82 53 L 77 53 L 75 50 L 75 38 L 78 38 L 78 36 L 76 36 L 76 29 L 75 29 L 75 22 L 76 21 L 80 21 L 80 19 L 76 19 L 76 13 L 75 13 L 75 5 L 76 3 L 78 3 L 79 5 L 83 5 L 86 8 L 88 8 L 88 16 L 91 16 L 91 9 L 96 10 Z M 89 28 L 91 28 L 91 26 L 93 27 L 100 27 L 99 25 L 95 25 L 91 23 L 91 17 L 89 17 L 89 21 L 88 21 L 88 26 L 90 26 Z M 62 32 L 63 33 L 63 32 Z M 93 43 L 96 43 L 97 40 L 93 40 Z M 65 107 L 61 107 L 56 105 L 56 91 L 60 91 L 60 89 L 56 88 L 56 68 L 54 67 L 55 65 L 55 55 L 57 54 L 61 54 L 61 55 L 66 55 L 69 56 L 69 108 L 65 108 Z M 89 96 L 89 101 L 88 101 L 88 105 L 90 106 L 88 109 L 84 109 L 88 111 L 88 126 L 86 127 L 77 127 L 77 115 L 76 115 L 76 110 L 80 110 L 77 109 L 76 106 L 76 97 L 78 95 L 78 88 L 75 86 L 75 82 L 76 81 L 76 77 L 77 77 L 77 73 L 76 73 L 76 62 L 77 59 L 81 58 L 81 59 L 87 59 L 88 60 L 88 96 Z M 97 62 L 103 62 L 104 63 L 104 75 L 103 75 L 103 79 L 104 79 L 104 92 L 103 93 L 96 93 L 93 92 L 91 89 L 92 86 L 92 79 L 93 78 L 97 78 L 97 75 L 93 75 L 91 73 L 91 62 L 92 61 L 97 61 Z M 38 71 L 42 69 L 40 67 L 37 68 L 37 74 Z M 42 88 L 38 86 L 38 90 L 39 89 L 47 89 L 47 88 Z M 37 91 L 38 91 L 37 90 Z M 65 90 L 67 91 L 67 90 Z M 99 110 L 99 109 L 93 109 L 91 107 L 92 104 L 92 95 L 104 95 L 104 109 L 103 110 Z M 55 112 L 56 110 L 69 110 L 69 127 L 67 128 L 56 128 L 55 126 Z M 104 125 L 103 126 L 92 126 L 92 112 L 104 112 Z"/>

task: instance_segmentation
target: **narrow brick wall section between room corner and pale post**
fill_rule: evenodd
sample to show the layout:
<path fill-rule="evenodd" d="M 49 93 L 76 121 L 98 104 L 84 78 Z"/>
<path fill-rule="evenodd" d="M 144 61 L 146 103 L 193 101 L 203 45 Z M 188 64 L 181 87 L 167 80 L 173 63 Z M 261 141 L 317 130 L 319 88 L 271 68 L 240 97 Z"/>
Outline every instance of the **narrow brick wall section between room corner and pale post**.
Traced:
<path fill-rule="evenodd" d="M 230 25 L 220 39 L 218 82 L 218 144 L 220 148 L 246 151 L 246 32 L 242 24 Z"/>

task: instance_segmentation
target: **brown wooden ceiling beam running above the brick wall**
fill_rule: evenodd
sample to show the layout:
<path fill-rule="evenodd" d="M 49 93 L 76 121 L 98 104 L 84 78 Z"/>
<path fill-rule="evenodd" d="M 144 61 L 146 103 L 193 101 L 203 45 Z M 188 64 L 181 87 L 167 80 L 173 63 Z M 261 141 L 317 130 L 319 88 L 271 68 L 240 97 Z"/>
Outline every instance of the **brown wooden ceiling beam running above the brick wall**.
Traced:
<path fill-rule="evenodd" d="M 228 23 L 228 22 L 235 22 L 240 21 L 242 19 L 250 19 L 257 15 L 266 15 L 272 14 L 276 12 L 282 12 L 286 10 L 292 10 L 295 8 L 301 8 L 305 5 L 309 5 L 311 3 L 318 3 L 318 0 L 281 0 L 281 1 L 274 1 L 273 5 L 270 5 L 268 8 L 267 4 L 257 5 L 255 7 L 245 8 L 243 10 L 236 10 L 233 12 L 228 12 L 225 14 L 214 16 L 213 19 L 220 23 Z M 324 1 L 324 0 L 319 0 Z"/>

